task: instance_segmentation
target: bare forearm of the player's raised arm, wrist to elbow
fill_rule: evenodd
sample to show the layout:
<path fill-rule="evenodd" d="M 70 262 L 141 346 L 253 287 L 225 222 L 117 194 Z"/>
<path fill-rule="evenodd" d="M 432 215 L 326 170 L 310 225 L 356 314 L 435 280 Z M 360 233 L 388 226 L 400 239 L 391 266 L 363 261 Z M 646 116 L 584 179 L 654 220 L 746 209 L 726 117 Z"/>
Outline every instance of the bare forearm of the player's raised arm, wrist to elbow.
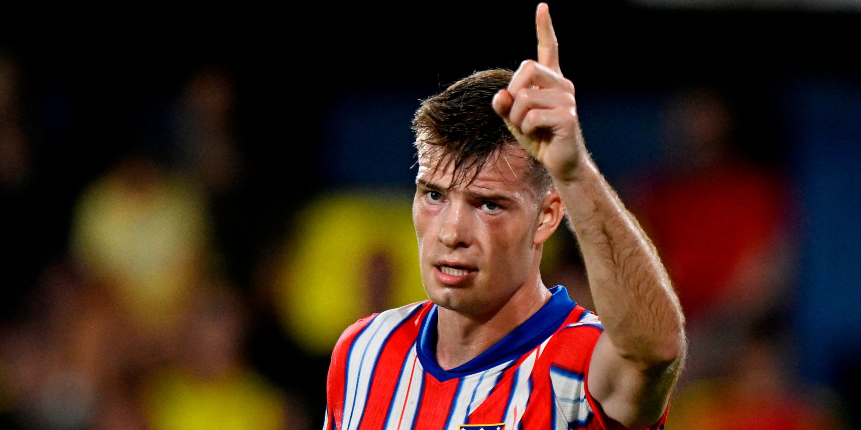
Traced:
<path fill-rule="evenodd" d="M 592 160 L 554 181 L 577 236 L 605 334 L 620 356 L 643 365 L 684 353 L 684 316 L 652 242 Z"/>

